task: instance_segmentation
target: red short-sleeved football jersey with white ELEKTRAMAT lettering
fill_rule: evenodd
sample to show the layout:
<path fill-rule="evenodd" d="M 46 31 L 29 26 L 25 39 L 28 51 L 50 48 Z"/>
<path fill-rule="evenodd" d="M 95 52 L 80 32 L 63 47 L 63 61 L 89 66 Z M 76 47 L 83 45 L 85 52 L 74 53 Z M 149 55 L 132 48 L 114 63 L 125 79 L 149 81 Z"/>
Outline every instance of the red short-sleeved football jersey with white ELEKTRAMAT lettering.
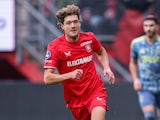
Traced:
<path fill-rule="evenodd" d="M 68 107 L 80 107 L 87 104 L 90 94 L 103 87 L 103 82 L 96 72 L 93 53 L 99 51 L 101 44 L 93 33 L 80 33 L 77 42 L 68 42 L 65 35 L 49 43 L 45 56 L 44 68 L 57 68 L 59 74 L 82 69 L 81 79 L 62 82 L 64 98 Z"/>

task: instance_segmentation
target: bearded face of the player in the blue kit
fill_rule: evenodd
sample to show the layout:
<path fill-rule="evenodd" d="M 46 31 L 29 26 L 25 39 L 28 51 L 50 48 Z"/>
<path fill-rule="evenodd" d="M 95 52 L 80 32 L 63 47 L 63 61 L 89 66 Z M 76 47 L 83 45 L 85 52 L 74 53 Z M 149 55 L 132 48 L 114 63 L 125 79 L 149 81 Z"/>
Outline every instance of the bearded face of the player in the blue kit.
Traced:
<path fill-rule="evenodd" d="M 143 23 L 143 29 L 149 38 L 153 38 L 158 32 L 158 25 L 153 20 L 146 20 Z"/>

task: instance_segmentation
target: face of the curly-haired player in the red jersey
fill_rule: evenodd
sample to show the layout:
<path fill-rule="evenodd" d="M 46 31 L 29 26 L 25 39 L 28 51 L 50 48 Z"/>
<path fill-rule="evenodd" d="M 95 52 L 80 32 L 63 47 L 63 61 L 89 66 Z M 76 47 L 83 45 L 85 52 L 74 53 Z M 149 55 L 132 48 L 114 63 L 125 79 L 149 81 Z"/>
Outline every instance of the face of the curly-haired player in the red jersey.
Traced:
<path fill-rule="evenodd" d="M 74 41 L 77 40 L 80 32 L 80 21 L 77 15 L 70 15 L 65 17 L 64 23 L 61 25 L 67 40 Z"/>

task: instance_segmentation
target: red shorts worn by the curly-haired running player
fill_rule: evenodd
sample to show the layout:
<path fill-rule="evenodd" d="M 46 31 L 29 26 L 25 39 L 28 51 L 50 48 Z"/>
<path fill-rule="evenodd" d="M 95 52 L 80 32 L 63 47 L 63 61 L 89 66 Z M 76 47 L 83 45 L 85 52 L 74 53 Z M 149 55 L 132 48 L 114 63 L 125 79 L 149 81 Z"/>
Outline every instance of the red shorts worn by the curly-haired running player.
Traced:
<path fill-rule="evenodd" d="M 88 101 L 87 105 L 84 105 L 83 107 L 70 108 L 70 110 L 76 120 L 90 120 L 91 111 L 94 107 L 101 106 L 108 111 L 106 99 L 106 90 L 98 90 L 91 95 L 91 99 Z"/>

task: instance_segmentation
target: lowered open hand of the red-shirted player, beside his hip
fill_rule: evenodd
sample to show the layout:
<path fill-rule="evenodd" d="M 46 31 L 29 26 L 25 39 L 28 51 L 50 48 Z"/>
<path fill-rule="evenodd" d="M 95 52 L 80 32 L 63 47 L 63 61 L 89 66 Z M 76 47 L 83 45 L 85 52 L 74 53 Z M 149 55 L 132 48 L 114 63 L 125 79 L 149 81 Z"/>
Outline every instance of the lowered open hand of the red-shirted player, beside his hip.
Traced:
<path fill-rule="evenodd" d="M 114 74 L 113 74 L 113 72 L 112 72 L 110 69 L 104 70 L 104 71 L 103 71 L 103 74 L 104 74 L 104 76 L 107 76 L 107 75 L 108 75 L 108 82 L 109 82 L 110 84 L 114 84 L 114 83 L 115 83 Z"/>

